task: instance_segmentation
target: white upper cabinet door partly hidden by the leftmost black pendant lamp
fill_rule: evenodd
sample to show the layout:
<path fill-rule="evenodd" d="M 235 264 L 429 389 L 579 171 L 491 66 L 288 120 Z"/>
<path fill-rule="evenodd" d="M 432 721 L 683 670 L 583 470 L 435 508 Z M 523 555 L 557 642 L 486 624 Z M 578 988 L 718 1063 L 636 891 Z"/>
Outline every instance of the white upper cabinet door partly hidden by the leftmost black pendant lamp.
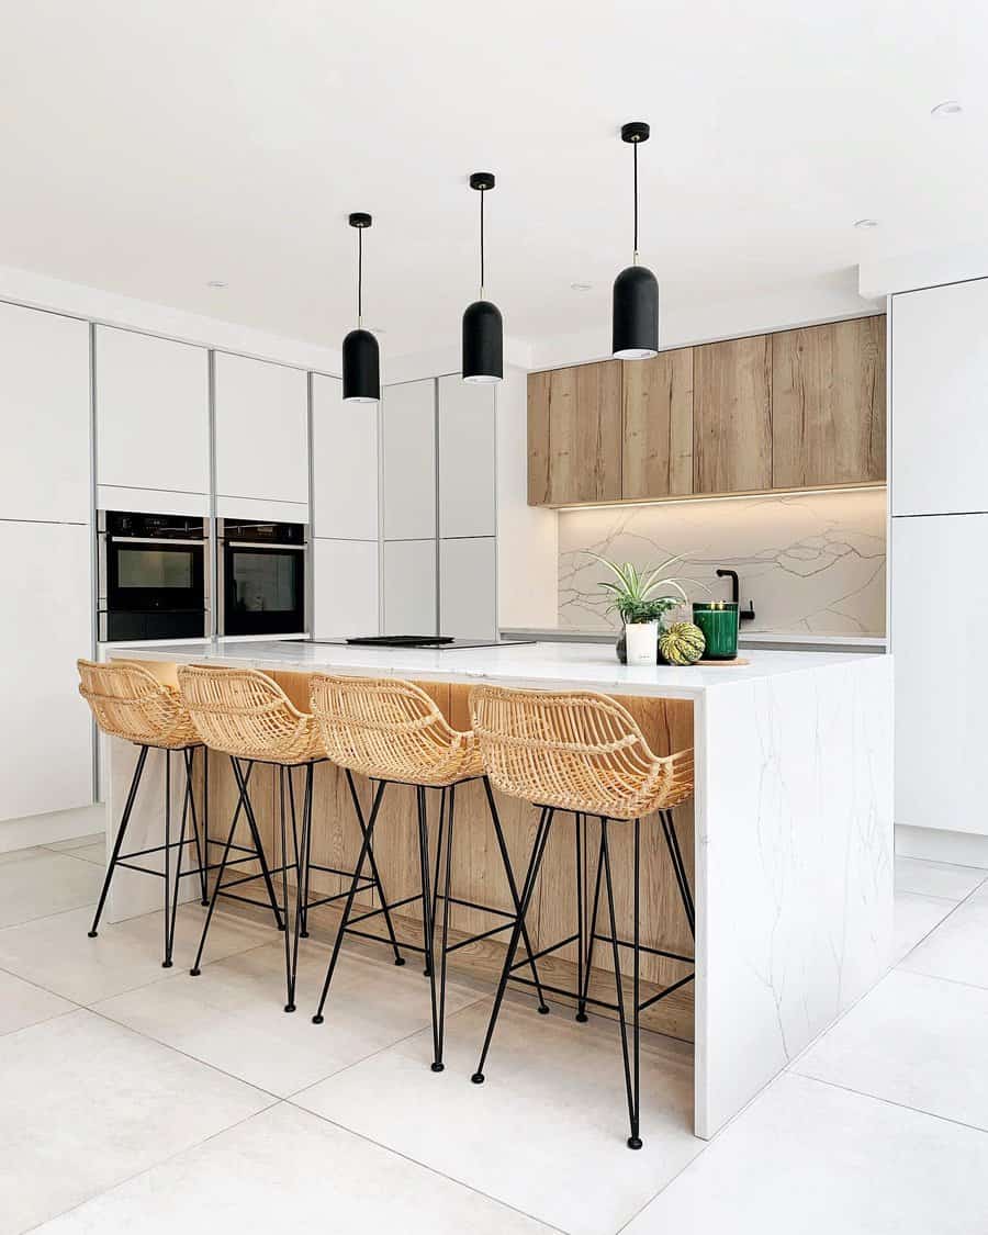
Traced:
<path fill-rule="evenodd" d="M 338 378 L 312 374 L 312 530 L 378 538 L 378 409 L 343 403 Z"/>

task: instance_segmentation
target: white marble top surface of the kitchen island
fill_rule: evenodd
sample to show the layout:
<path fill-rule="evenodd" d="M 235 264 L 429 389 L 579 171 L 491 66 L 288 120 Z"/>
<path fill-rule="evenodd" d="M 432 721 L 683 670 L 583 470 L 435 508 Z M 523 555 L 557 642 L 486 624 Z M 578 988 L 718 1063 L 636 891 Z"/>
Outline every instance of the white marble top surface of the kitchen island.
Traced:
<path fill-rule="evenodd" d="M 117 653 L 107 648 L 107 656 Z M 228 664 L 298 673 L 348 673 L 403 677 L 420 682 L 499 682 L 536 689 L 588 689 L 610 694 L 695 699 L 709 690 L 783 674 L 874 661 L 867 652 L 767 651 L 753 648 L 748 664 L 673 668 L 627 667 L 604 643 L 520 643 L 499 647 L 427 648 L 366 647 L 309 642 L 158 643 L 128 647 L 122 659 L 178 664 Z"/>

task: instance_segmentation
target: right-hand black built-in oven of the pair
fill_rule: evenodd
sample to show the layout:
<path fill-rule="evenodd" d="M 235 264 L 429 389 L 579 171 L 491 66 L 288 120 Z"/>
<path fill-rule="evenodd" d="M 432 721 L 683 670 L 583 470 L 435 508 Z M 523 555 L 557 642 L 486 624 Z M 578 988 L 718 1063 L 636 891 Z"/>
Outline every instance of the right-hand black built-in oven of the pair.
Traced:
<path fill-rule="evenodd" d="M 220 634 L 304 634 L 305 525 L 221 519 L 217 534 Z"/>

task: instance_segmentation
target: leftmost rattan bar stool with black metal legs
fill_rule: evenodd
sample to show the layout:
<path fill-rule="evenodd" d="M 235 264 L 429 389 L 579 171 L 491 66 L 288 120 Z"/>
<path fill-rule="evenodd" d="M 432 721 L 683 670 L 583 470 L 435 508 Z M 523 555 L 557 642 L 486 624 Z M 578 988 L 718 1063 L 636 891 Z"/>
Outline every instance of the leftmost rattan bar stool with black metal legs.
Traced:
<path fill-rule="evenodd" d="M 133 769 L 130 790 L 124 805 L 124 813 L 114 840 L 110 865 L 103 881 L 103 890 L 96 904 L 96 913 L 89 930 L 89 937 L 99 934 L 100 918 L 106 904 L 114 874 L 119 867 L 138 871 L 164 881 L 164 958 L 162 967 L 172 968 L 172 955 L 175 944 L 175 916 L 178 913 L 178 893 L 182 879 L 199 877 L 203 904 L 206 904 L 206 878 L 209 867 L 209 806 L 206 793 L 209 787 L 209 752 L 203 746 L 193 727 L 189 713 L 182 697 L 174 687 L 159 682 L 158 678 L 138 661 L 111 661 L 98 664 L 95 661 L 80 659 L 79 694 L 89 704 L 100 731 L 109 737 L 119 737 L 140 747 L 137 766 Z M 164 751 L 164 844 L 149 848 L 121 853 L 127 825 L 131 821 L 137 790 L 144 774 L 147 752 Z M 203 751 L 203 819 L 195 809 L 193 771 L 196 751 Z M 182 827 L 179 839 L 172 840 L 172 755 L 182 755 L 185 768 L 185 792 L 182 800 Z M 191 836 L 186 839 L 186 827 L 191 815 Z M 196 862 L 183 869 L 183 856 L 186 845 L 195 845 Z M 174 869 L 172 852 L 175 852 Z M 151 858 L 163 853 L 162 869 L 138 865 L 138 858 Z"/>

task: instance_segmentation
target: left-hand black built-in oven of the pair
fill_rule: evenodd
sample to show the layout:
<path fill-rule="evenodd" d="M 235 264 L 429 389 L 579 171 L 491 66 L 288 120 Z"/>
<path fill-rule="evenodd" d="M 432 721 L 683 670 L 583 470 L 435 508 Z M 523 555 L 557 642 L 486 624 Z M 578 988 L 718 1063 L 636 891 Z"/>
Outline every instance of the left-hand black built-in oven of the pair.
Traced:
<path fill-rule="evenodd" d="M 207 558 L 201 516 L 100 511 L 100 641 L 209 635 Z"/>

